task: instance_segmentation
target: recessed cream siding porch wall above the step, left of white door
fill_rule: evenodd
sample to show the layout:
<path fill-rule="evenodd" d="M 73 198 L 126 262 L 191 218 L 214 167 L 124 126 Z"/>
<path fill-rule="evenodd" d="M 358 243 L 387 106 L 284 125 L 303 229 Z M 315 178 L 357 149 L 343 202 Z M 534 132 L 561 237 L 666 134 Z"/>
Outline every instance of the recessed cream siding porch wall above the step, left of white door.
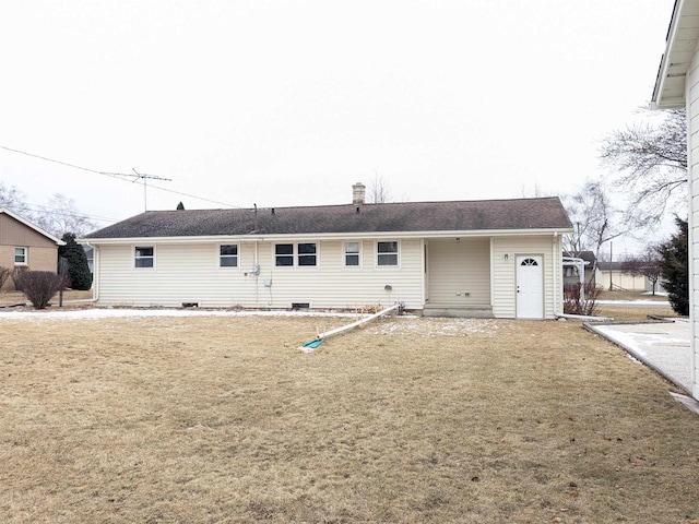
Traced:
<path fill-rule="evenodd" d="M 428 249 L 430 307 L 490 307 L 488 238 L 430 240 Z"/>

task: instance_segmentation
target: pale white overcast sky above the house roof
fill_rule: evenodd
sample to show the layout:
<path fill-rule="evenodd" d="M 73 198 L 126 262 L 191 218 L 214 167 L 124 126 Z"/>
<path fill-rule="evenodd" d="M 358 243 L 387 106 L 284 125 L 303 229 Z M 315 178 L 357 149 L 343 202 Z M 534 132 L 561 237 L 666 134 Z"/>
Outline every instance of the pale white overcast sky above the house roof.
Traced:
<path fill-rule="evenodd" d="M 649 102 L 673 3 L 4 0 L 0 146 L 171 179 L 150 210 L 569 193 Z M 102 226 L 144 209 L 3 148 L 0 181 Z"/>

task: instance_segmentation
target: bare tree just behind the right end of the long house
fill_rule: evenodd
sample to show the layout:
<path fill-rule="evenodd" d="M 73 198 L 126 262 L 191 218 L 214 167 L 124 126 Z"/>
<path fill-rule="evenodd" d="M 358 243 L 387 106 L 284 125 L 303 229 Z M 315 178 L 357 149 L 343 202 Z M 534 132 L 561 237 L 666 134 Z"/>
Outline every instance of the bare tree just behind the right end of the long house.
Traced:
<path fill-rule="evenodd" d="M 588 180 L 578 193 L 564 198 L 564 206 L 574 229 L 572 234 L 564 236 L 564 249 L 571 253 L 593 251 L 594 275 L 602 245 L 628 233 L 628 229 L 620 213 L 609 202 L 601 181 Z"/>

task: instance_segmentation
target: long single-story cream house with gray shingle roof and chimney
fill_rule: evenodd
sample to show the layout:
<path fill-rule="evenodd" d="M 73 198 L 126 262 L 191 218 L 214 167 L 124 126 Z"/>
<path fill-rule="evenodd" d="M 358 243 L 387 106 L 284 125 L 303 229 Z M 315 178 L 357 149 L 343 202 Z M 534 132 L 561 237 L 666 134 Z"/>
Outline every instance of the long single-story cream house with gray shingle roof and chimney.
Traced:
<path fill-rule="evenodd" d="M 81 239 L 98 303 L 356 309 L 550 319 L 562 311 L 557 198 L 150 211 Z"/>

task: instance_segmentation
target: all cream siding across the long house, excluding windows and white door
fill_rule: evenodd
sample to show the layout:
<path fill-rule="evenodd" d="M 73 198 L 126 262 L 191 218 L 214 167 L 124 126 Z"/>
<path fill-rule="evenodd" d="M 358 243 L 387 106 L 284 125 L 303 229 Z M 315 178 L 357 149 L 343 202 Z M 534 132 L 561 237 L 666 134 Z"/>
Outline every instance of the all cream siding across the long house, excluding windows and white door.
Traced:
<path fill-rule="evenodd" d="M 544 263 L 544 314 L 554 318 L 561 308 L 560 236 L 462 238 L 459 245 L 453 239 L 431 239 L 427 273 L 423 239 L 396 239 L 399 266 L 377 265 L 377 240 L 357 241 L 363 262 L 351 267 L 345 265 L 345 240 L 286 242 L 315 243 L 317 265 L 311 267 L 298 266 L 296 261 L 292 266 L 276 266 L 275 246 L 284 242 L 221 242 L 237 243 L 239 271 L 221 271 L 213 263 L 221 243 L 157 243 L 157 263 L 150 271 L 134 270 L 133 245 L 98 246 L 99 303 L 287 309 L 307 302 L 316 309 L 352 310 L 403 301 L 406 308 L 419 310 L 427 287 L 430 306 L 439 301 L 445 307 L 491 306 L 496 318 L 514 318 L 516 257 L 536 254 Z"/>

